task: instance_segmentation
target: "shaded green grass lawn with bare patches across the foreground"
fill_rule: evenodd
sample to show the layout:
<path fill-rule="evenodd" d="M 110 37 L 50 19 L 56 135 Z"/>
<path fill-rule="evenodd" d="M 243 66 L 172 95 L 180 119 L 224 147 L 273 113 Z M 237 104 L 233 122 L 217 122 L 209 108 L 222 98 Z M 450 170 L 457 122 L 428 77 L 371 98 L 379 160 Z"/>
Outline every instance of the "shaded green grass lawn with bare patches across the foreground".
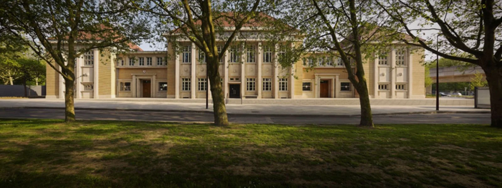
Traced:
<path fill-rule="evenodd" d="M 502 186 L 502 129 L 0 120 L 0 187 Z"/>

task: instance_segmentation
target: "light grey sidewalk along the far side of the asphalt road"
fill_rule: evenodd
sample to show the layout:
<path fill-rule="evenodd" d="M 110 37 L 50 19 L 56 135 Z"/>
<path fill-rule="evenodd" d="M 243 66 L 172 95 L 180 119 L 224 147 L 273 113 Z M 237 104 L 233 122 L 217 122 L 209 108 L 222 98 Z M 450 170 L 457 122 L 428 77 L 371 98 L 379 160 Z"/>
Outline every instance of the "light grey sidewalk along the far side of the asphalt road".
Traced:
<path fill-rule="evenodd" d="M 64 108 L 64 100 L 11 99 L 0 100 L 0 108 Z M 171 103 L 122 100 L 75 100 L 75 108 L 80 110 L 130 110 L 164 112 L 211 113 L 212 104 L 205 109 L 204 103 Z M 250 105 L 228 104 L 228 114 L 239 115 L 317 115 L 317 116 L 357 116 L 359 105 Z M 374 115 L 436 113 L 435 106 L 423 105 L 372 105 Z M 472 106 L 440 106 L 440 113 L 489 113 L 489 109 L 474 109 Z"/>

